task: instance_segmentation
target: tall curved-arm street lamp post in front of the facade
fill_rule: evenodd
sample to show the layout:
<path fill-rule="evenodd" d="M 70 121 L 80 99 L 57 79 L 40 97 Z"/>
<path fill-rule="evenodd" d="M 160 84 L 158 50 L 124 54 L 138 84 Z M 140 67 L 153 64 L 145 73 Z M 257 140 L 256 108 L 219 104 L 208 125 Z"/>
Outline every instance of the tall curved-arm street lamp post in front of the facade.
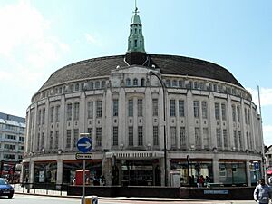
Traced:
<path fill-rule="evenodd" d="M 164 148 L 164 186 L 168 186 L 168 178 L 167 178 L 167 146 L 166 146 L 166 90 L 165 90 L 165 84 L 162 82 L 160 77 L 157 73 L 154 73 L 153 71 L 149 72 L 150 75 L 154 75 L 158 78 L 160 81 L 160 85 L 162 87 L 162 93 L 163 93 L 163 148 Z"/>

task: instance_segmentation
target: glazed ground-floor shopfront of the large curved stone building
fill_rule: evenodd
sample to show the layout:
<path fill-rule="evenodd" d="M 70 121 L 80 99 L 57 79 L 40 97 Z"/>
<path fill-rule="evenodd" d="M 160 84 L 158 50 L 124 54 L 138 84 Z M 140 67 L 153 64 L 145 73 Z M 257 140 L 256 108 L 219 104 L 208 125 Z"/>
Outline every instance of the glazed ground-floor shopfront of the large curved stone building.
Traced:
<path fill-rule="evenodd" d="M 93 160 L 86 160 L 88 184 L 162 186 L 163 164 L 163 151 L 93 152 Z M 169 186 L 197 186 L 203 176 L 205 184 L 252 186 L 263 175 L 262 166 L 259 157 L 248 154 L 168 152 L 167 180 Z M 24 158 L 21 180 L 72 185 L 76 170 L 82 169 L 83 161 L 75 160 L 74 154 L 32 156 Z"/>

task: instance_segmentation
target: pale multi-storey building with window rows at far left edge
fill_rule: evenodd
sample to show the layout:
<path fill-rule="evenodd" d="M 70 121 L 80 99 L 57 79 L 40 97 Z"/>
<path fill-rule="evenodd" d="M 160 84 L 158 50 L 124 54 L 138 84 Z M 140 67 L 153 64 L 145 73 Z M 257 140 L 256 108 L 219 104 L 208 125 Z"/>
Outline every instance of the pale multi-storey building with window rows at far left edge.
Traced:
<path fill-rule="evenodd" d="M 15 164 L 23 160 L 25 119 L 0 112 L 0 160 Z"/>

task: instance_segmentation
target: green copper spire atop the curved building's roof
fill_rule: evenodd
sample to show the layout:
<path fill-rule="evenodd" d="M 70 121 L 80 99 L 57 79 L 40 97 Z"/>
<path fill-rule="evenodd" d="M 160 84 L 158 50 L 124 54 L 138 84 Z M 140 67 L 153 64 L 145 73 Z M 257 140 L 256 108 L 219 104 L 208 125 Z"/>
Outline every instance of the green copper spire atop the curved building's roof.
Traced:
<path fill-rule="evenodd" d="M 131 32 L 128 39 L 127 53 L 131 53 L 131 52 L 145 53 L 144 38 L 141 33 L 142 31 L 141 20 L 140 20 L 140 16 L 138 15 L 139 11 L 136 5 L 135 5 L 135 11 L 133 13 L 134 15 L 131 18 Z"/>

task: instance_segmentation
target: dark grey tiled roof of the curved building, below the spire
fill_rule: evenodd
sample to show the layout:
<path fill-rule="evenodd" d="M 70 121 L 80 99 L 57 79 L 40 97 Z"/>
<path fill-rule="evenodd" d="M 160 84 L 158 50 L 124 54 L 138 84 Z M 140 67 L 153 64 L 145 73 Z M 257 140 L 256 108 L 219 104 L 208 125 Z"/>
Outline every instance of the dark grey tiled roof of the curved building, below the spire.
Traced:
<path fill-rule="evenodd" d="M 175 55 L 149 54 L 148 56 L 150 60 L 145 65 L 151 67 L 152 64 L 155 64 L 156 68 L 160 68 L 160 72 L 164 74 L 198 76 L 233 83 L 242 87 L 227 69 L 215 63 Z M 93 58 L 64 66 L 54 72 L 40 90 L 57 83 L 66 83 L 97 76 L 108 76 L 116 66 L 127 66 L 124 63 L 124 57 L 125 55 L 116 55 Z"/>

